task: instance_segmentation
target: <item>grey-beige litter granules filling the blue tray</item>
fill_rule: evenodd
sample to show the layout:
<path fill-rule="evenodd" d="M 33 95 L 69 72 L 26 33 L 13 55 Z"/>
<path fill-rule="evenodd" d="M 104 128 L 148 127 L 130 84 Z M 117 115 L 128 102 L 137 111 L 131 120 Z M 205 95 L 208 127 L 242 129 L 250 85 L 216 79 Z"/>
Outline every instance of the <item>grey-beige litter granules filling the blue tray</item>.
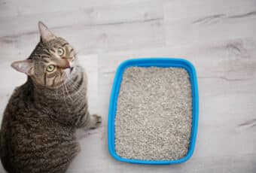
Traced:
<path fill-rule="evenodd" d="M 187 155 L 192 122 L 190 77 L 183 68 L 126 68 L 117 99 L 115 150 L 127 159 Z"/>

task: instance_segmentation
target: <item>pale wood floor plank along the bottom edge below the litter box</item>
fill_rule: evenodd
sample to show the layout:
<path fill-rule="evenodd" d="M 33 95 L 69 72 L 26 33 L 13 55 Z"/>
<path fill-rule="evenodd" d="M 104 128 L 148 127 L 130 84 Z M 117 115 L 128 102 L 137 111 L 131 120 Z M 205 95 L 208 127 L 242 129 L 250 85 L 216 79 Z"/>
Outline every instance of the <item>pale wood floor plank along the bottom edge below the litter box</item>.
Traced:
<path fill-rule="evenodd" d="M 87 153 L 84 153 L 87 154 Z M 154 173 L 154 172 L 191 172 L 191 173 L 215 173 L 215 172 L 232 172 L 240 173 L 241 171 L 254 173 L 255 166 L 255 155 L 245 156 L 228 156 L 228 157 L 206 157 L 190 159 L 181 165 L 135 165 L 120 163 L 111 159 L 107 159 L 105 162 L 87 158 L 84 162 L 84 168 L 69 168 L 68 172 L 142 172 L 142 173 Z M 107 162 L 107 164 L 105 164 Z"/>

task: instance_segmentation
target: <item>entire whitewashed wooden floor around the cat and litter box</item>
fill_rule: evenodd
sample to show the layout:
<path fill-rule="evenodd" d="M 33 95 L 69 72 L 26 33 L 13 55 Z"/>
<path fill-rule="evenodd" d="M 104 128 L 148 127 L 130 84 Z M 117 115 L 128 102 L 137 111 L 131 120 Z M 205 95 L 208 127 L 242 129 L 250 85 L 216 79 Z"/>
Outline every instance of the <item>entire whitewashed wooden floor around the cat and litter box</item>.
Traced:
<path fill-rule="evenodd" d="M 1 119 L 14 87 L 26 80 L 11 62 L 32 52 L 38 20 L 77 49 L 90 110 L 103 117 L 99 129 L 81 137 L 68 172 L 256 172 L 256 0 L 0 0 Z M 188 59 L 197 68 L 197 144 L 181 165 L 131 165 L 108 154 L 117 65 L 154 56 Z"/>

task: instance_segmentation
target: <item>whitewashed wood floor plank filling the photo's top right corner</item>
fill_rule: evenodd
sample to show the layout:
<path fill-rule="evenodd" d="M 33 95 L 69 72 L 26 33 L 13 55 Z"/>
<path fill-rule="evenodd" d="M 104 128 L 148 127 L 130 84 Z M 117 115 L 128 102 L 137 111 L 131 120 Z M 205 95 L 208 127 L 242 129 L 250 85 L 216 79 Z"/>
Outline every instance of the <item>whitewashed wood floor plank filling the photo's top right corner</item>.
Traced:
<path fill-rule="evenodd" d="M 254 35 L 256 1 L 171 1 L 164 5 L 170 46 L 209 43 Z"/>

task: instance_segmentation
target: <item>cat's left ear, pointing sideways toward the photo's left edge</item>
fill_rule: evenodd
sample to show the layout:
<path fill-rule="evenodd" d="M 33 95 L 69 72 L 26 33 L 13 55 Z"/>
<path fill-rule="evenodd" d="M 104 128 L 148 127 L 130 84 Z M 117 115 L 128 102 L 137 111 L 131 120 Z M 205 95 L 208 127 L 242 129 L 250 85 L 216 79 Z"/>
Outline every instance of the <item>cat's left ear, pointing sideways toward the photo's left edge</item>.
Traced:
<path fill-rule="evenodd" d="M 26 59 L 23 61 L 15 61 L 11 63 L 11 66 L 22 73 L 27 75 L 32 75 L 34 73 L 34 65 L 31 59 Z"/>

